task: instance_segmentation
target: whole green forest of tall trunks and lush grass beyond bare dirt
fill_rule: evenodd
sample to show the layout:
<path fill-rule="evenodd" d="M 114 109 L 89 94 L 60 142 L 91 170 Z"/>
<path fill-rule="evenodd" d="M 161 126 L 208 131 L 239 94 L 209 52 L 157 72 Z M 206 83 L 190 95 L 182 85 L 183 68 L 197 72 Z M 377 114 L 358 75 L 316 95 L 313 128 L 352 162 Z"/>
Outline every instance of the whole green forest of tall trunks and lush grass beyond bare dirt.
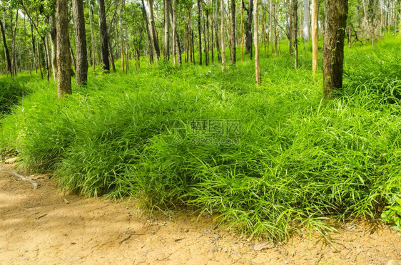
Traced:
<path fill-rule="evenodd" d="M 401 229 L 400 0 L 0 3 L 16 171 L 273 242 Z"/>

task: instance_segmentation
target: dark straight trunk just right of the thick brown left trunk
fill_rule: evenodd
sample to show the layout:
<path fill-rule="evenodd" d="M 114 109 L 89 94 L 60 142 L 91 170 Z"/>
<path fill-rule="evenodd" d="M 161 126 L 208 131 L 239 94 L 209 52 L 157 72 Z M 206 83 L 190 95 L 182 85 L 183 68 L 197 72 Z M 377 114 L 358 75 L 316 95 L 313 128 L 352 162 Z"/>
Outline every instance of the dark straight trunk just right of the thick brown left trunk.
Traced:
<path fill-rule="evenodd" d="M 73 0 L 73 24 L 75 29 L 76 85 L 86 85 L 88 80 L 88 55 L 86 51 L 85 18 L 83 0 Z"/>

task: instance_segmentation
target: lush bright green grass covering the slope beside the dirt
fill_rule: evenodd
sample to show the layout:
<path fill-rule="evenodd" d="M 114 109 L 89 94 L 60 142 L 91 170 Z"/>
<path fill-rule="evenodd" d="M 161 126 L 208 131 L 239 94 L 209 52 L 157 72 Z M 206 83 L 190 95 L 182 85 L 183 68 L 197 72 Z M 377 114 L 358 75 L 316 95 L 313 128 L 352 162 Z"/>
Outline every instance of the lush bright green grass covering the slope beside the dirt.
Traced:
<path fill-rule="evenodd" d="M 0 144 L 85 196 L 191 205 L 273 241 L 305 227 L 325 235 L 333 220 L 379 217 L 400 197 L 400 43 L 346 48 L 342 97 L 325 102 L 309 44 L 298 70 L 283 43 L 282 56 L 262 56 L 260 86 L 249 60 L 225 73 L 218 64 L 131 66 L 90 76 L 63 100 L 54 83 L 33 80 L 35 92 L 1 120 Z M 174 119 L 187 135 L 168 145 L 161 129 Z M 191 144 L 196 119 L 241 120 L 239 143 Z"/>

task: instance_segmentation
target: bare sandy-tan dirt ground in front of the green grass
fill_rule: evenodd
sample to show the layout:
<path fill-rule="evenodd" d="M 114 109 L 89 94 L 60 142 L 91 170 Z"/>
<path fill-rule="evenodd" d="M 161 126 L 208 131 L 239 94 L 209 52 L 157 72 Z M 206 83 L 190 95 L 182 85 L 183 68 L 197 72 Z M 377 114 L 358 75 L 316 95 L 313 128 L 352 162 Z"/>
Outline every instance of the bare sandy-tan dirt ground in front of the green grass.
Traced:
<path fill-rule="evenodd" d="M 12 165 L 1 164 L 11 172 Z M 141 212 L 132 201 L 59 194 L 46 175 L 0 172 L 0 264 L 397 264 L 401 233 L 347 223 L 334 246 L 308 233 L 276 246 L 214 229 L 212 217 Z"/>

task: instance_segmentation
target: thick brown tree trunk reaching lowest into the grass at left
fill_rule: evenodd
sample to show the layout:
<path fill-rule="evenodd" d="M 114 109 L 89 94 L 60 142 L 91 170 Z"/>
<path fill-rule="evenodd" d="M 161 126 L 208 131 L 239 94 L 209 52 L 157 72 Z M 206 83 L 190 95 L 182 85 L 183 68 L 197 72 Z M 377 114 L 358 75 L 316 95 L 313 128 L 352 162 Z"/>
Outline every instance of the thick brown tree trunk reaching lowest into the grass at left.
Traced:
<path fill-rule="evenodd" d="M 68 0 L 56 0 L 57 94 L 71 94 L 71 56 L 68 33 Z"/>

